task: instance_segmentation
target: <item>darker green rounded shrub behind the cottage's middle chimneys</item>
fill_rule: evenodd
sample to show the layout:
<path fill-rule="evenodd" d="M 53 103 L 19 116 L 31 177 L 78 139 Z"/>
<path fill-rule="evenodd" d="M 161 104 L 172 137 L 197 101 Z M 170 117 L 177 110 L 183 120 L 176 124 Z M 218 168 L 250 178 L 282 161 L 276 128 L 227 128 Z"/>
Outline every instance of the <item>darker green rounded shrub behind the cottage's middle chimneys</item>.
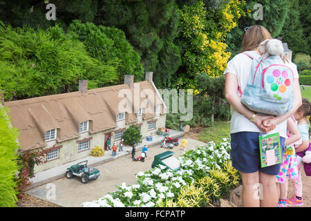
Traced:
<path fill-rule="evenodd" d="M 115 61 L 120 76 L 117 83 L 122 83 L 124 75 L 135 75 L 135 79 L 143 79 L 144 70 L 140 64 L 140 56 L 129 41 L 126 41 L 122 30 L 73 20 L 68 28 L 68 33 L 70 32 L 84 43 L 86 50 L 95 59 L 105 64 Z"/>

